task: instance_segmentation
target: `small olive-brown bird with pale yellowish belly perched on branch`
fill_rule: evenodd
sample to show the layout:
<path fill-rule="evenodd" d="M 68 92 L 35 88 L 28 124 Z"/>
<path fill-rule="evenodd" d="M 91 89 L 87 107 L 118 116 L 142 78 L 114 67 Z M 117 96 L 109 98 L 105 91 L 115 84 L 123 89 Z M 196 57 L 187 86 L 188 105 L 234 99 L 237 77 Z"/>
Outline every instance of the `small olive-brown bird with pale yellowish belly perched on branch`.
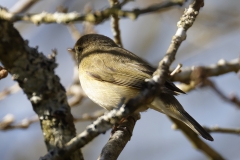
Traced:
<path fill-rule="evenodd" d="M 100 34 L 80 37 L 74 48 L 79 80 L 83 91 L 96 104 L 112 110 L 124 99 L 137 96 L 152 77 L 155 68 L 134 53 L 118 46 L 112 39 Z M 137 112 L 154 109 L 185 123 L 195 133 L 209 141 L 212 136 L 183 108 L 175 98 L 184 93 L 166 80 L 163 91 Z"/>

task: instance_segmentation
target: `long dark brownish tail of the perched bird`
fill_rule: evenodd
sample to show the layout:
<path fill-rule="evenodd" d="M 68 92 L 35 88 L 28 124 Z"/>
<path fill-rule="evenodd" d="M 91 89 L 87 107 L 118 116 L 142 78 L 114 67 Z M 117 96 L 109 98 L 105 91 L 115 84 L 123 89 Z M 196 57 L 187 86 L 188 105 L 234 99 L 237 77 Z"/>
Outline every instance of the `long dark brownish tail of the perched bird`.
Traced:
<path fill-rule="evenodd" d="M 212 136 L 183 109 L 182 105 L 173 95 L 166 93 L 160 94 L 152 102 L 151 108 L 182 121 L 195 133 L 209 141 L 213 141 Z"/>

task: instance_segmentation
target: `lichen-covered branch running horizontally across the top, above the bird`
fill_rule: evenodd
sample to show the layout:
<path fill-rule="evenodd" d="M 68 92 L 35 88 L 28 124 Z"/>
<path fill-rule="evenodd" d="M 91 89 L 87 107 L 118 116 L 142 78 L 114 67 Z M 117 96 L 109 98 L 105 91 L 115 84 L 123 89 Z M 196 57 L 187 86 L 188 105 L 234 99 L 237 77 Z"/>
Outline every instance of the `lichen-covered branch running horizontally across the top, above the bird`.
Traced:
<path fill-rule="evenodd" d="M 141 14 L 151 13 L 155 11 L 159 11 L 162 9 L 170 8 L 172 6 L 182 5 L 185 0 L 172 0 L 161 2 L 159 4 L 154 4 L 144 9 L 133 9 L 131 11 L 121 10 L 119 8 L 107 8 L 103 11 L 96 11 L 94 13 L 88 13 L 82 15 L 77 12 L 71 13 L 47 13 L 42 12 L 39 14 L 27 14 L 27 15 L 18 15 L 8 12 L 5 8 L 0 8 L 0 19 L 7 20 L 10 22 L 16 21 L 27 21 L 34 24 L 41 24 L 41 23 L 69 23 L 75 21 L 87 21 L 91 23 L 101 23 L 108 19 L 111 15 L 117 15 L 119 17 L 128 17 L 130 19 L 136 19 Z"/>

